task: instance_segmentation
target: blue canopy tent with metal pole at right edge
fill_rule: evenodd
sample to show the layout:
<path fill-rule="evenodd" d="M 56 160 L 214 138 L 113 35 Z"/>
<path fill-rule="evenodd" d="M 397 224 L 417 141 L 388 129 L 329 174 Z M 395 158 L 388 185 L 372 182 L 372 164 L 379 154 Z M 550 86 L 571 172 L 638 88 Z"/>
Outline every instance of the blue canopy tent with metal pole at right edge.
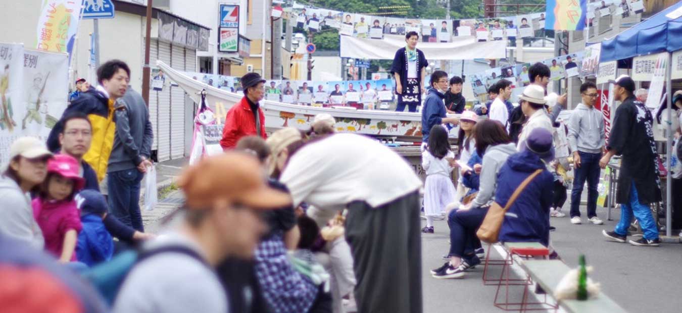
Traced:
<path fill-rule="evenodd" d="M 682 10 L 682 1 L 671 5 L 666 10 L 662 10 L 658 14 L 651 16 L 647 20 L 634 25 L 633 27 L 622 31 L 610 40 L 602 42 L 602 52 L 599 57 L 600 62 L 608 61 L 629 61 L 633 57 L 640 55 L 649 55 L 652 53 L 668 53 L 668 62 L 666 63 L 666 86 L 668 92 L 666 103 L 670 104 L 670 67 L 672 63 L 672 53 L 682 49 L 682 17 L 680 14 L 674 14 L 669 18 L 668 14 L 675 10 Z M 677 13 L 677 12 L 676 12 Z M 630 62 L 625 62 L 629 64 Z M 670 168 L 670 150 L 672 149 L 672 130 L 670 121 L 672 120 L 672 110 L 668 110 L 668 143 L 666 146 L 666 157 L 668 168 Z M 671 202 L 671 179 L 670 170 L 668 170 L 666 183 L 666 236 L 672 233 L 672 211 L 670 207 Z"/>

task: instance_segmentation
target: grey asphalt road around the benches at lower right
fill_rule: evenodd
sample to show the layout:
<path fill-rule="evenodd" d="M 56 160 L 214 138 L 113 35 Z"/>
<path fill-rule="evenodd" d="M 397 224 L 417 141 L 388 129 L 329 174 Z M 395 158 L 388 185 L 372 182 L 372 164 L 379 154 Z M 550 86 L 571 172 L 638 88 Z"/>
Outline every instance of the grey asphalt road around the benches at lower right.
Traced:
<path fill-rule="evenodd" d="M 591 277 L 628 312 L 681 312 L 682 244 L 640 248 L 605 241 L 602 229 L 612 230 L 620 216 L 619 211 L 613 213 L 616 220 L 604 225 L 573 225 L 568 217 L 552 218 L 557 231 L 551 239 L 561 258 L 577 267 L 578 255 L 585 254 L 588 265 L 594 267 Z M 599 209 L 597 215 L 606 217 L 606 211 Z M 443 264 L 447 236 L 444 221 L 436 221 L 434 234 L 422 236 L 424 312 L 502 312 L 492 304 L 496 286 L 484 286 L 481 281 L 482 267 L 462 280 L 436 280 L 428 273 Z M 499 275 L 499 270 L 492 273 Z M 513 295 L 520 299 L 520 291 Z"/>

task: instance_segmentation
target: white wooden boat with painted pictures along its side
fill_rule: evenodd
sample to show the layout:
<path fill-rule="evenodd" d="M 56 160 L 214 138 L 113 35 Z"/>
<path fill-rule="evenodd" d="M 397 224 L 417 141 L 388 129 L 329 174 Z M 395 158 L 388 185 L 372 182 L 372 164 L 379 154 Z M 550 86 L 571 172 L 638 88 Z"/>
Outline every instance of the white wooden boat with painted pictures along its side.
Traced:
<path fill-rule="evenodd" d="M 231 93 L 224 89 L 212 87 L 201 82 L 201 80 L 196 80 L 173 70 L 163 61 L 157 61 L 157 65 L 173 82 L 188 93 L 194 102 L 201 103 L 200 93 L 202 90 L 206 90 L 206 102 L 216 113 L 216 118 L 220 123 L 224 121 L 227 110 L 243 98 L 243 94 Z M 408 141 L 421 141 L 420 113 L 357 110 L 349 107 L 322 108 L 269 100 L 263 100 L 261 108 L 265 113 L 265 127 L 269 130 L 277 130 L 287 126 L 308 130 L 315 115 L 328 113 L 336 119 L 337 132 L 353 132 L 372 136 L 400 136 Z"/>

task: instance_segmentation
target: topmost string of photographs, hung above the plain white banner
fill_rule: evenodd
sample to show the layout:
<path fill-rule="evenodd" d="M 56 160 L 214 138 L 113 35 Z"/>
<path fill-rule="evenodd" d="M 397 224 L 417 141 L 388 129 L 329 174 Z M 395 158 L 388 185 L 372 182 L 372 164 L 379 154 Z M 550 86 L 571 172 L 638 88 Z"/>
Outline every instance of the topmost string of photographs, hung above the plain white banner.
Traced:
<path fill-rule="evenodd" d="M 586 24 L 592 23 L 595 12 L 599 16 L 644 10 L 643 0 L 590 0 Z M 600 2 L 597 2 L 600 1 Z M 622 2 L 621 2 L 622 1 Z M 371 16 L 336 10 L 314 8 L 294 3 L 285 8 L 295 26 L 317 32 L 324 29 L 338 29 L 340 35 L 357 38 L 383 39 L 384 35 L 405 35 L 416 31 L 422 42 L 451 42 L 457 36 L 475 36 L 479 42 L 509 40 L 516 45 L 517 38 L 541 37 L 545 29 L 545 13 L 538 12 L 502 18 L 466 18 L 460 20 L 394 18 Z"/>

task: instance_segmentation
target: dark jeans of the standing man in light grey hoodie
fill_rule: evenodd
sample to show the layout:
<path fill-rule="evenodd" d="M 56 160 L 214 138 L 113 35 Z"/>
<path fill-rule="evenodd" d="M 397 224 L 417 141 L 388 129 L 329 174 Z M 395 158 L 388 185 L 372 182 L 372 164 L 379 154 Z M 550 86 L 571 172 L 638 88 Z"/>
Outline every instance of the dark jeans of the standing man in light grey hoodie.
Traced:
<path fill-rule="evenodd" d="M 587 180 L 587 218 L 597 216 L 597 185 L 599 185 L 599 159 L 601 153 L 584 153 L 578 151 L 580 155 L 580 167 L 576 168 L 576 177 L 573 180 L 573 190 L 571 192 L 571 217 L 580 216 L 580 196 L 582 188 Z"/>

